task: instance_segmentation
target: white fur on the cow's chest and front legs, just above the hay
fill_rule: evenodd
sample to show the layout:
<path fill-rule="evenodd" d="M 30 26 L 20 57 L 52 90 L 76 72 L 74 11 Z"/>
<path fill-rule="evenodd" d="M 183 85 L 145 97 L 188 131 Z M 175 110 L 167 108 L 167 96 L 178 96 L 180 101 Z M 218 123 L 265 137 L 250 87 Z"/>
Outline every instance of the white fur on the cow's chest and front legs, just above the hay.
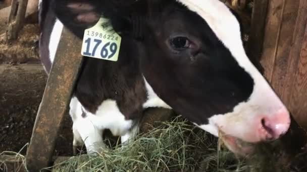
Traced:
<path fill-rule="evenodd" d="M 82 117 L 85 112 L 86 116 Z M 70 103 L 70 115 L 73 120 L 74 146 L 84 142 L 89 153 L 99 151 L 105 146 L 103 132 L 110 129 L 115 136 L 123 136 L 128 140 L 134 133 L 130 133 L 132 120 L 125 120 L 114 100 L 106 100 L 98 107 L 95 114 L 86 111 L 76 97 Z"/>

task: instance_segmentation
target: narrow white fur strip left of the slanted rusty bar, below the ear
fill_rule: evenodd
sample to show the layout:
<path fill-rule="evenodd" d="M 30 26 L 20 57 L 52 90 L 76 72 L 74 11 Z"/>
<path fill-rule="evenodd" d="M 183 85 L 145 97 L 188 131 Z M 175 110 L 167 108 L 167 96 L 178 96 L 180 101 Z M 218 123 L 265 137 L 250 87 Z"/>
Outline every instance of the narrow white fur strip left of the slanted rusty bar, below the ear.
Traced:
<path fill-rule="evenodd" d="M 56 19 L 55 25 L 52 29 L 52 33 L 50 35 L 50 41 L 49 41 L 49 47 L 48 47 L 49 48 L 49 59 L 52 63 L 54 62 L 54 59 L 57 53 L 62 31 L 63 31 L 63 24 L 60 22 L 60 20 Z"/>

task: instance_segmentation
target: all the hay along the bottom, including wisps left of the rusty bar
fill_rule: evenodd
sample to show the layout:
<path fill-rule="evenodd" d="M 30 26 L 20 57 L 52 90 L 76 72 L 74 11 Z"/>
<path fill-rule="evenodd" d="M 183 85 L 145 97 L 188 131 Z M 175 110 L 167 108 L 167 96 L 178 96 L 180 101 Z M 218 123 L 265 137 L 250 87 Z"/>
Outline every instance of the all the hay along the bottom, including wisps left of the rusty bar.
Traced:
<path fill-rule="evenodd" d="M 49 167 L 52 171 L 202 171 L 202 172 L 305 172 L 307 145 L 294 156 L 287 153 L 281 141 L 255 145 L 253 154 L 238 159 L 232 152 L 218 146 L 218 139 L 186 120 L 160 122 L 160 126 L 137 136 L 128 145 L 104 148 L 97 156 L 80 154 Z M 155 125 L 156 126 L 156 125 Z M 26 147 L 26 146 L 25 146 Z M 20 153 L 3 152 L 21 159 Z M 18 168 L 20 168 L 18 167 Z M 0 171 L 6 171 L 0 161 Z"/>

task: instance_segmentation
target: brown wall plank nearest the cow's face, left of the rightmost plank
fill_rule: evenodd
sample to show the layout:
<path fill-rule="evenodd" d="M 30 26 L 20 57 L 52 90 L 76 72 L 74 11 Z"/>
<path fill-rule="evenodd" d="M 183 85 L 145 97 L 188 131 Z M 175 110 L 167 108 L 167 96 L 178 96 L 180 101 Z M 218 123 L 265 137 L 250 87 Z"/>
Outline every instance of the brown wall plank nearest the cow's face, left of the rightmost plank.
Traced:
<path fill-rule="evenodd" d="M 282 10 L 284 6 L 283 15 Z M 270 0 L 261 63 L 265 76 L 280 94 L 295 29 L 299 1 Z"/>

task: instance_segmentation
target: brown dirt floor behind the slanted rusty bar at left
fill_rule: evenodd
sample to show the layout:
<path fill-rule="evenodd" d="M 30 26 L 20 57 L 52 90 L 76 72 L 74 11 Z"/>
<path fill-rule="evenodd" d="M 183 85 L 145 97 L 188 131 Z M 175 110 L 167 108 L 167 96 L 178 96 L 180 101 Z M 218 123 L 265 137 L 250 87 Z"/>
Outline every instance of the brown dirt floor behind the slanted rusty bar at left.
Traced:
<path fill-rule="evenodd" d="M 7 44 L 0 36 L 0 152 L 18 152 L 31 138 L 47 80 L 37 54 L 38 34 L 37 25 L 26 25 L 18 42 Z M 72 155 L 72 123 L 66 117 L 55 152 L 62 156 Z"/>

